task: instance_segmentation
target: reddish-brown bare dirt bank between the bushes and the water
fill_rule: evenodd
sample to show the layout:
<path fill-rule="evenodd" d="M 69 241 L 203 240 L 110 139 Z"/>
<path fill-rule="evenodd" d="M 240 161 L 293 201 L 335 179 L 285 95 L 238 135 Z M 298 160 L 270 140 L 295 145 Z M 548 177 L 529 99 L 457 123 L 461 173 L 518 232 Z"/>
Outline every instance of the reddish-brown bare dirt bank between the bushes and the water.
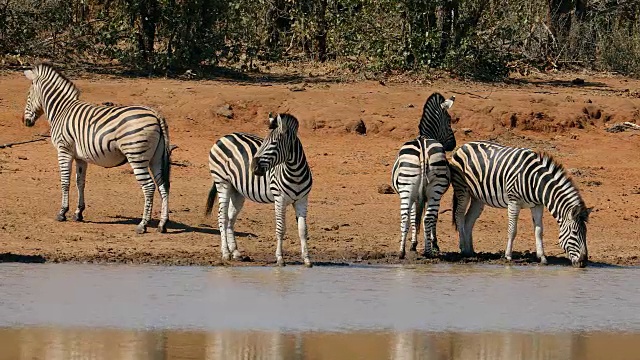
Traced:
<path fill-rule="evenodd" d="M 571 82 L 576 76 L 584 84 Z M 544 149 L 573 174 L 588 206 L 590 259 L 605 264 L 640 264 L 640 132 L 609 133 L 613 123 L 640 120 L 640 82 L 619 77 L 567 74 L 488 85 L 456 80 L 417 83 L 307 79 L 236 82 L 127 79 L 97 75 L 72 77 L 81 98 L 115 104 L 144 104 L 168 119 L 172 154 L 171 223 L 136 235 L 143 196 L 128 165 L 89 166 L 85 222 L 54 220 L 60 207 L 56 152 L 48 141 L 0 149 L 0 262 L 80 261 L 158 264 L 222 264 L 217 220 L 204 216 L 211 185 L 207 165 L 213 143 L 234 131 L 267 133 L 267 114 L 290 112 L 311 164 L 314 185 L 309 204 L 310 255 L 317 264 L 400 263 L 399 198 L 380 194 L 404 141 L 417 135 L 422 105 L 433 91 L 456 96 L 450 110 L 458 145 L 492 139 L 507 145 Z M 29 82 L 21 72 L 0 74 L 0 144 L 48 132 L 46 118 L 27 128 L 21 121 Z M 304 91 L 299 91 L 304 89 Z M 296 91 L 294 91 L 296 90 Z M 233 118 L 217 115 L 230 105 Z M 365 136 L 348 129 L 362 119 Z M 457 256 L 451 225 L 450 189 L 438 222 L 444 254 L 429 261 L 500 263 L 507 236 L 506 210 L 486 208 L 474 233 L 477 258 Z M 71 188 L 71 210 L 77 193 Z M 271 205 L 245 203 L 236 230 L 249 262 L 275 261 Z M 154 217 L 160 210 L 155 197 Z M 217 205 L 216 205 L 217 206 Z M 299 263 L 293 212 L 287 214 L 285 259 Z M 156 224 L 153 222 L 152 225 Z M 566 264 L 558 227 L 545 213 L 545 246 L 552 262 Z M 421 240 L 419 250 L 424 247 Z M 528 211 L 520 215 L 514 246 L 517 263 L 531 263 L 535 241 Z M 239 264 L 239 263 L 234 263 Z"/>

